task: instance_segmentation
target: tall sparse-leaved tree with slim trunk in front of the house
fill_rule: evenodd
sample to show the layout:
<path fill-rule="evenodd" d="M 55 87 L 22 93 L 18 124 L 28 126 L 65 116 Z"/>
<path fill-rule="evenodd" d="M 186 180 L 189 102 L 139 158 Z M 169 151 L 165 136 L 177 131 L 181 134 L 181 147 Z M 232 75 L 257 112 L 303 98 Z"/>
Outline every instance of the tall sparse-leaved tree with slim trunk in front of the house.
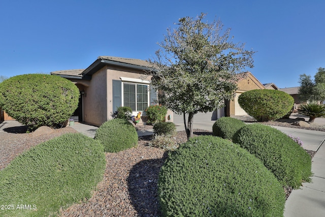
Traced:
<path fill-rule="evenodd" d="M 168 28 L 152 61 L 156 65 L 152 85 L 163 92 L 159 103 L 183 114 L 187 138 L 193 134 L 193 116 L 233 99 L 236 73 L 253 67 L 254 52 L 234 43 L 230 29 L 223 31 L 219 20 L 203 22 L 205 16 L 184 17 L 177 28 Z"/>

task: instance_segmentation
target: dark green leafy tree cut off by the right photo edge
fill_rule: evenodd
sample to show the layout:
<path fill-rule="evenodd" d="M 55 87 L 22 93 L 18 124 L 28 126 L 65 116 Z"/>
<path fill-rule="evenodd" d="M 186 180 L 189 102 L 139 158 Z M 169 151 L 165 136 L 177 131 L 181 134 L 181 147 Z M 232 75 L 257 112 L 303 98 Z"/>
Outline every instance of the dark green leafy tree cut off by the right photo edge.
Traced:
<path fill-rule="evenodd" d="M 310 75 L 300 75 L 299 83 L 299 97 L 302 101 L 323 103 L 325 100 L 325 68 L 318 68 L 314 80 Z"/>

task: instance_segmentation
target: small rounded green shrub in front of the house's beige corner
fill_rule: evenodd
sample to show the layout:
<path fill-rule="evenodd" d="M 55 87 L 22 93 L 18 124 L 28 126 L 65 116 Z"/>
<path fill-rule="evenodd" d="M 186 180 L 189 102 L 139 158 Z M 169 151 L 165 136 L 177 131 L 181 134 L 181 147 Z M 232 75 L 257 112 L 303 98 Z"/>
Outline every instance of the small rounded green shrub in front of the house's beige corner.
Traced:
<path fill-rule="evenodd" d="M 138 134 L 131 122 L 116 118 L 97 129 L 95 139 L 104 145 L 105 152 L 118 152 L 138 144 Z"/>

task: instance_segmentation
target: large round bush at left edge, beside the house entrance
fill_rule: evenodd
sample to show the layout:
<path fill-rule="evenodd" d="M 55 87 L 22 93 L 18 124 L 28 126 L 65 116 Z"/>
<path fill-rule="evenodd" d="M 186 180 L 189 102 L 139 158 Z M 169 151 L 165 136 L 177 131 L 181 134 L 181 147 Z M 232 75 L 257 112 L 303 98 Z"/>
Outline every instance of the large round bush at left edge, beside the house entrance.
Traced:
<path fill-rule="evenodd" d="M 74 83 L 55 75 L 18 75 L 0 83 L 0 106 L 31 129 L 68 120 L 79 95 Z"/>

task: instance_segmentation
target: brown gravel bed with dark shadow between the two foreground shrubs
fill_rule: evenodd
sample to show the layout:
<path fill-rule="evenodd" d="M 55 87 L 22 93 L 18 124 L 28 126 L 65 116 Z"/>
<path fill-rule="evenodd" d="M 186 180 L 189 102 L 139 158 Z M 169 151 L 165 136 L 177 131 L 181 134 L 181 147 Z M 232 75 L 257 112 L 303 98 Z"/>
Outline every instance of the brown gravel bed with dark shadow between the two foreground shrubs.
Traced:
<path fill-rule="evenodd" d="M 194 130 L 194 135 L 212 134 Z M 186 142 L 185 131 L 177 141 Z M 157 182 L 167 152 L 147 146 L 152 136 L 139 138 L 138 146 L 106 153 L 106 171 L 98 190 L 85 203 L 74 204 L 61 216 L 160 216 Z"/>

